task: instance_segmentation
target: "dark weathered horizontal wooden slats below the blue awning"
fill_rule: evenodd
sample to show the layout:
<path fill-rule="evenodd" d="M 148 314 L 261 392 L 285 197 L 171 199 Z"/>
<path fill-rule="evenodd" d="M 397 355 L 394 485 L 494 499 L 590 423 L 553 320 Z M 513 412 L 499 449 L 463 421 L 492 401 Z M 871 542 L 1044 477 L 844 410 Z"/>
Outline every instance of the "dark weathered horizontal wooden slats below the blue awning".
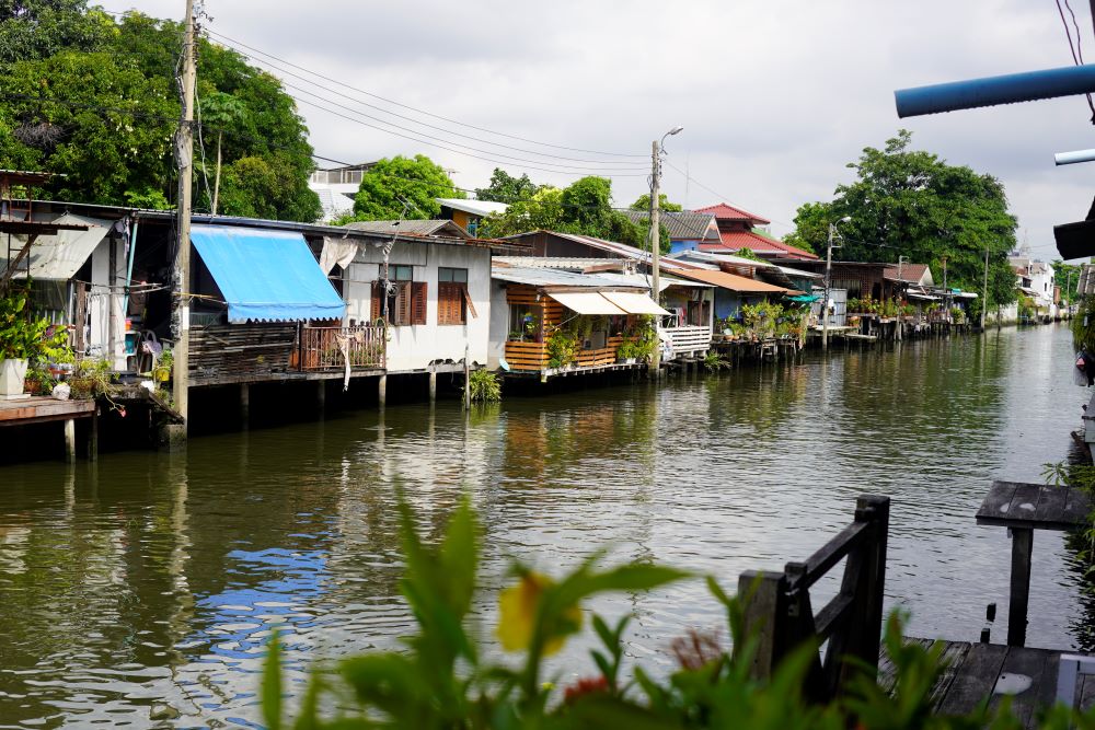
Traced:
<path fill-rule="evenodd" d="M 191 384 L 244 382 L 286 372 L 297 347 L 297 325 L 230 324 L 191 329 Z"/>

